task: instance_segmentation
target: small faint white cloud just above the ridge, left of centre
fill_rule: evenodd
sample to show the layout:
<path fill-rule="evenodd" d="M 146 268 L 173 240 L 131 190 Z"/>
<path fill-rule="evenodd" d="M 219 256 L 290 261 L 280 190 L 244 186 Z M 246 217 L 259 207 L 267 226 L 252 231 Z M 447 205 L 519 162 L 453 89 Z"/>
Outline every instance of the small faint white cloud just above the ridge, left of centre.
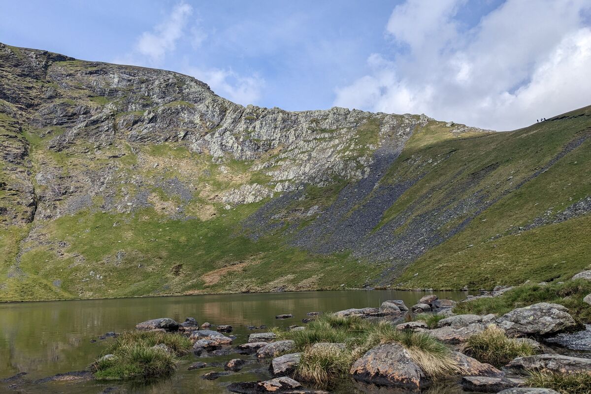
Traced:
<path fill-rule="evenodd" d="M 245 77 L 231 69 L 187 67 L 184 72 L 209 84 L 217 95 L 242 105 L 257 102 L 265 84 L 256 74 Z"/>

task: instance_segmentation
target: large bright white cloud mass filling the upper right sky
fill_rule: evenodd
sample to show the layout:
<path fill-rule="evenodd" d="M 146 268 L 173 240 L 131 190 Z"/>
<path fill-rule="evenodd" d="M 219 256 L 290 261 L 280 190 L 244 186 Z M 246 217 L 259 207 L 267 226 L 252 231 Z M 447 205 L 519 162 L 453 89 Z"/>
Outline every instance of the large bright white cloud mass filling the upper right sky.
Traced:
<path fill-rule="evenodd" d="M 591 30 L 584 0 L 508 0 L 460 31 L 463 0 L 407 0 L 387 33 L 405 48 L 368 58 L 367 75 L 336 89 L 335 105 L 426 113 L 514 129 L 591 104 Z"/>

